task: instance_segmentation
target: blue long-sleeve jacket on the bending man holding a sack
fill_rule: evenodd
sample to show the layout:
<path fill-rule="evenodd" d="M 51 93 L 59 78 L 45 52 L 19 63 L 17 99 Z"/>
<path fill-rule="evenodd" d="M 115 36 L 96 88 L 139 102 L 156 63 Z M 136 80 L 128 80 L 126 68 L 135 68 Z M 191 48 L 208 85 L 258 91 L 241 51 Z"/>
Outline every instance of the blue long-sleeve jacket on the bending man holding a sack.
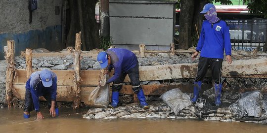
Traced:
<path fill-rule="evenodd" d="M 114 68 L 114 75 L 107 80 L 106 84 L 116 81 L 122 72 L 127 72 L 134 66 L 138 65 L 135 54 L 127 49 L 112 48 L 106 53 L 111 57 L 109 69 Z"/>

